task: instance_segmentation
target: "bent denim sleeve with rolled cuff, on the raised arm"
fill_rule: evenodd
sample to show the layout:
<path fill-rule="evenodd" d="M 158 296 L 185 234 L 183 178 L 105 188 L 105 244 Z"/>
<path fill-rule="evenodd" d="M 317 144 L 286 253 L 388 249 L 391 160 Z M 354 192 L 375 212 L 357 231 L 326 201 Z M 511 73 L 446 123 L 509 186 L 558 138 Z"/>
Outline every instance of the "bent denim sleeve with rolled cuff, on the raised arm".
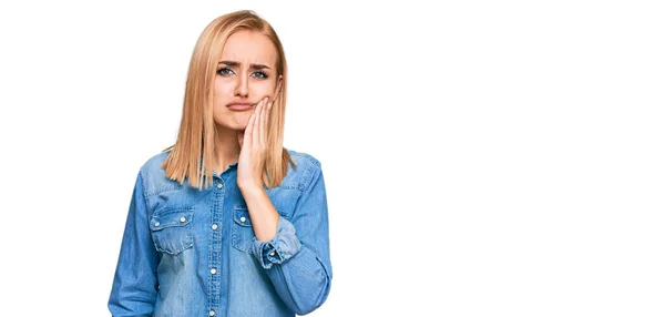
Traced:
<path fill-rule="evenodd" d="M 277 234 L 268 242 L 255 238 L 252 248 L 279 297 L 298 315 L 326 301 L 332 278 L 324 174 L 318 161 L 308 168 L 294 216 L 279 216 Z"/>

